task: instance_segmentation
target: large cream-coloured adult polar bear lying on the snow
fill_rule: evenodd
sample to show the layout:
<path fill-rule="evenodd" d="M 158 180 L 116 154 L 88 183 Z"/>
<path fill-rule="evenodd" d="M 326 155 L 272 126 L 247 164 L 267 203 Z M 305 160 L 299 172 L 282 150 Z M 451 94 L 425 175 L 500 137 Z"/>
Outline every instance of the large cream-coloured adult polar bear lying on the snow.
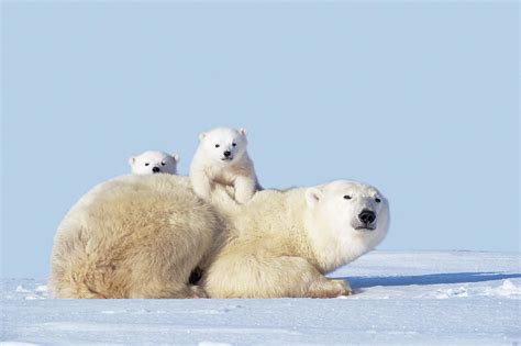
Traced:
<path fill-rule="evenodd" d="M 211 298 L 337 297 L 323 274 L 376 246 L 387 201 L 365 185 L 336 181 L 257 192 L 212 204 L 185 177 L 120 177 L 88 192 L 58 227 L 49 288 L 56 298 L 197 298 L 200 266 Z"/>

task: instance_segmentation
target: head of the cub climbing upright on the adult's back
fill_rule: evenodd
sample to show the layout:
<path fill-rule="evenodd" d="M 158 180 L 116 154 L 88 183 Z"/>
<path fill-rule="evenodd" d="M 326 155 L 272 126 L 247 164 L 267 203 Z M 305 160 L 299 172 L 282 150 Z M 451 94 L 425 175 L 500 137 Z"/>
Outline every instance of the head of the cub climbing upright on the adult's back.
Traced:
<path fill-rule="evenodd" d="M 245 129 L 218 127 L 199 134 L 199 141 L 207 158 L 214 163 L 234 163 L 246 153 Z"/>

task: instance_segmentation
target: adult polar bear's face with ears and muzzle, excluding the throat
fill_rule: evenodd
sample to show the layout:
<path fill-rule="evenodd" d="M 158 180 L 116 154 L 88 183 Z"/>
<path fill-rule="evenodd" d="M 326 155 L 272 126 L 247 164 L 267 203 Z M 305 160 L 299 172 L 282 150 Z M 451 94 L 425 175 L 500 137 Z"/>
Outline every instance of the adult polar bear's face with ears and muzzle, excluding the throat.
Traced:
<path fill-rule="evenodd" d="M 389 226 L 389 205 L 374 187 L 354 181 L 334 181 L 306 192 L 315 223 L 339 238 L 366 238 L 376 246 Z"/>

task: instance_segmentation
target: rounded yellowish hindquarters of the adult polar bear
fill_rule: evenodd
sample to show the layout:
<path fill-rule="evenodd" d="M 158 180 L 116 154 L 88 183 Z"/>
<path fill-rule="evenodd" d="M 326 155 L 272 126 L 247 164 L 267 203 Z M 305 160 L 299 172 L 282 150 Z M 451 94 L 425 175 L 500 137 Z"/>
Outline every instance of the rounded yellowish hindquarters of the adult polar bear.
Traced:
<path fill-rule="evenodd" d="M 125 176 L 84 196 L 58 226 L 55 298 L 200 298 L 188 284 L 222 228 L 187 177 Z"/>

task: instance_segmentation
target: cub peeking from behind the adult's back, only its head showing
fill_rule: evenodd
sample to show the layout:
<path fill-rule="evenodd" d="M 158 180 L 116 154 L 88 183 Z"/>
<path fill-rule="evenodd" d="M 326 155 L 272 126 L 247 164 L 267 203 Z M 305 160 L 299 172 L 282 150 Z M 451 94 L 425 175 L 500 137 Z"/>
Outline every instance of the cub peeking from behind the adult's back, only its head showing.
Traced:
<path fill-rule="evenodd" d="M 129 159 L 132 174 L 134 175 L 153 175 L 169 174 L 177 175 L 177 163 L 179 155 L 166 154 L 164 152 L 145 152 Z"/>

